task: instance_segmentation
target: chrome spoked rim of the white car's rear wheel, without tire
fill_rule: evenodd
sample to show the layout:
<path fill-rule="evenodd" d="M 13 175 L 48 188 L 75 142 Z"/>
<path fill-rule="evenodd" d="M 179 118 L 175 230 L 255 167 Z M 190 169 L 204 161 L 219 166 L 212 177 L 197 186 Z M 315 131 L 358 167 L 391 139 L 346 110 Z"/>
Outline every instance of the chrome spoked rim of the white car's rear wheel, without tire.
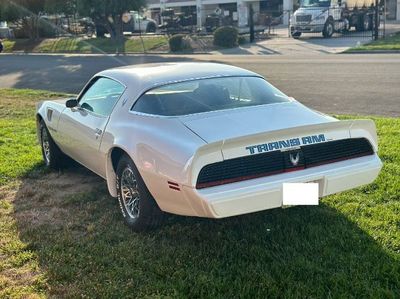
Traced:
<path fill-rule="evenodd" d="M 130 167 L 124 169 L 121 175 L 121 197 L 128 215 L 136 219 L 140 214 L 140 194 L 138 184 Z"/>

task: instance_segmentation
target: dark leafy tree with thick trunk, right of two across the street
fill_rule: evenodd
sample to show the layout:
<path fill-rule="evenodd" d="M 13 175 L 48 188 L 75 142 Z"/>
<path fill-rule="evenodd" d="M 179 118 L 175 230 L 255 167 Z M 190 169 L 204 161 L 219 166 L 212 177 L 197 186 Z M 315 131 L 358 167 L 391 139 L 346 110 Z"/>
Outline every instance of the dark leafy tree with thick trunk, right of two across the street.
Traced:
<path fill-rule="evenodd" d="M 78 11 L 90 16 L 96 27 L 104 26 L 111 38 L 122 38 L 122 15 L 130 10 L 140 10 L 145 0 L 80 0 Z"/>

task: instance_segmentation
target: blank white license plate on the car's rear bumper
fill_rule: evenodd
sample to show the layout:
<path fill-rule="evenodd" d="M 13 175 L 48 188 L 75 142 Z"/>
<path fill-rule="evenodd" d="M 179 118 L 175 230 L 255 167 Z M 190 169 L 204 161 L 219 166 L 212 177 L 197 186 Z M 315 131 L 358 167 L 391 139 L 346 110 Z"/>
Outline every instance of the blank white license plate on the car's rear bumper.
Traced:
<path fill-rule="evenodd" d="M 282 204 L 284 206 L 318 205 L 318 189 L 318 183 L 284 183 Z"/>

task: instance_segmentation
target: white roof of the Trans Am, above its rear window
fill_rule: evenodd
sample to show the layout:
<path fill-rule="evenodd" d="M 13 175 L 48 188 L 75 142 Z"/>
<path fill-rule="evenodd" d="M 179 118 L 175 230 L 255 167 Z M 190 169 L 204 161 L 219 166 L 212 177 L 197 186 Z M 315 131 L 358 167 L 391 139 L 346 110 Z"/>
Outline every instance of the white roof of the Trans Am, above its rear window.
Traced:
<path fill-rule="evenodd" d="M 209 62 L 168 62 L 130 65 L 113 68 L 98 73 L 116 79 L 125 86 L 135 86 L 137 90 L 150 89 L 173 82 L 194 79 L 230 76 L 258 76 L 251 71 L 220 63 Z"/>

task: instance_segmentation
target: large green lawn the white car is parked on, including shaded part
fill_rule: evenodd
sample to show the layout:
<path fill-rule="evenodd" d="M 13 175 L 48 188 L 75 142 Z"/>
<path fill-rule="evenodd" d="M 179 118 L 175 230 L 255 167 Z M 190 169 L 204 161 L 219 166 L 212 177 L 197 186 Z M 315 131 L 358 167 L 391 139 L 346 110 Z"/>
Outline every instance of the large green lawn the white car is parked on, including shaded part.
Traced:
<path fill-rule="evenodd" d="M 170 216 L 136 234 L 104 181 L 44 170 L 34 105 L 57 96 L 0 90 L 0 298 L 398 298 L 400 119 L 373 118 L 373 184 L 318 207 Z"/>

